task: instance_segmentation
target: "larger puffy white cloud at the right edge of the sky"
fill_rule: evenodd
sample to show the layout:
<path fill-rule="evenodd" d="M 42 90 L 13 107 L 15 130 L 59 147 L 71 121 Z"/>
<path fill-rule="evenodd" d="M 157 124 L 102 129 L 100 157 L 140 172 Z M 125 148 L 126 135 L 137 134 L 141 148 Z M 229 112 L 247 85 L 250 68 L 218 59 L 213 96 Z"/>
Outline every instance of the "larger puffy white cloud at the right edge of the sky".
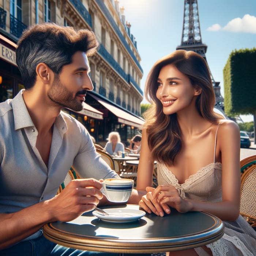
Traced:
<path fill-rule="evenodd" d="M 244 32 L 256 34 L 256 17 L 245 14 L 244 17 L 231 20 L 225 27 L 224 31 L 229 32 Z"/>

